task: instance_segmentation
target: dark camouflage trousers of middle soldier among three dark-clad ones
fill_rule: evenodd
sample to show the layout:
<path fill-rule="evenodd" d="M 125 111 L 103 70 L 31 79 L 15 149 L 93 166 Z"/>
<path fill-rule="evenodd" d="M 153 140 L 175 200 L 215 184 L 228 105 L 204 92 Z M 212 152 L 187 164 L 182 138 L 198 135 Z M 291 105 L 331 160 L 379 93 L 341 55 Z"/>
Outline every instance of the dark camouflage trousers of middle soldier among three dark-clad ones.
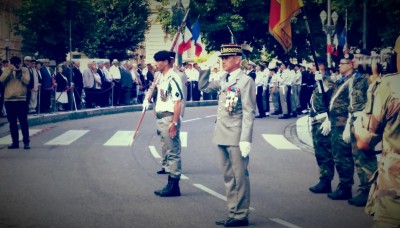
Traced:
<path fill-rule="evenodd" d="M 344 126 L 332 126 L 331 144 L 339 182 L 343 186 L 351 187 L 354 184 L 354 160 L 351 145 L 343 141 Z"/>

